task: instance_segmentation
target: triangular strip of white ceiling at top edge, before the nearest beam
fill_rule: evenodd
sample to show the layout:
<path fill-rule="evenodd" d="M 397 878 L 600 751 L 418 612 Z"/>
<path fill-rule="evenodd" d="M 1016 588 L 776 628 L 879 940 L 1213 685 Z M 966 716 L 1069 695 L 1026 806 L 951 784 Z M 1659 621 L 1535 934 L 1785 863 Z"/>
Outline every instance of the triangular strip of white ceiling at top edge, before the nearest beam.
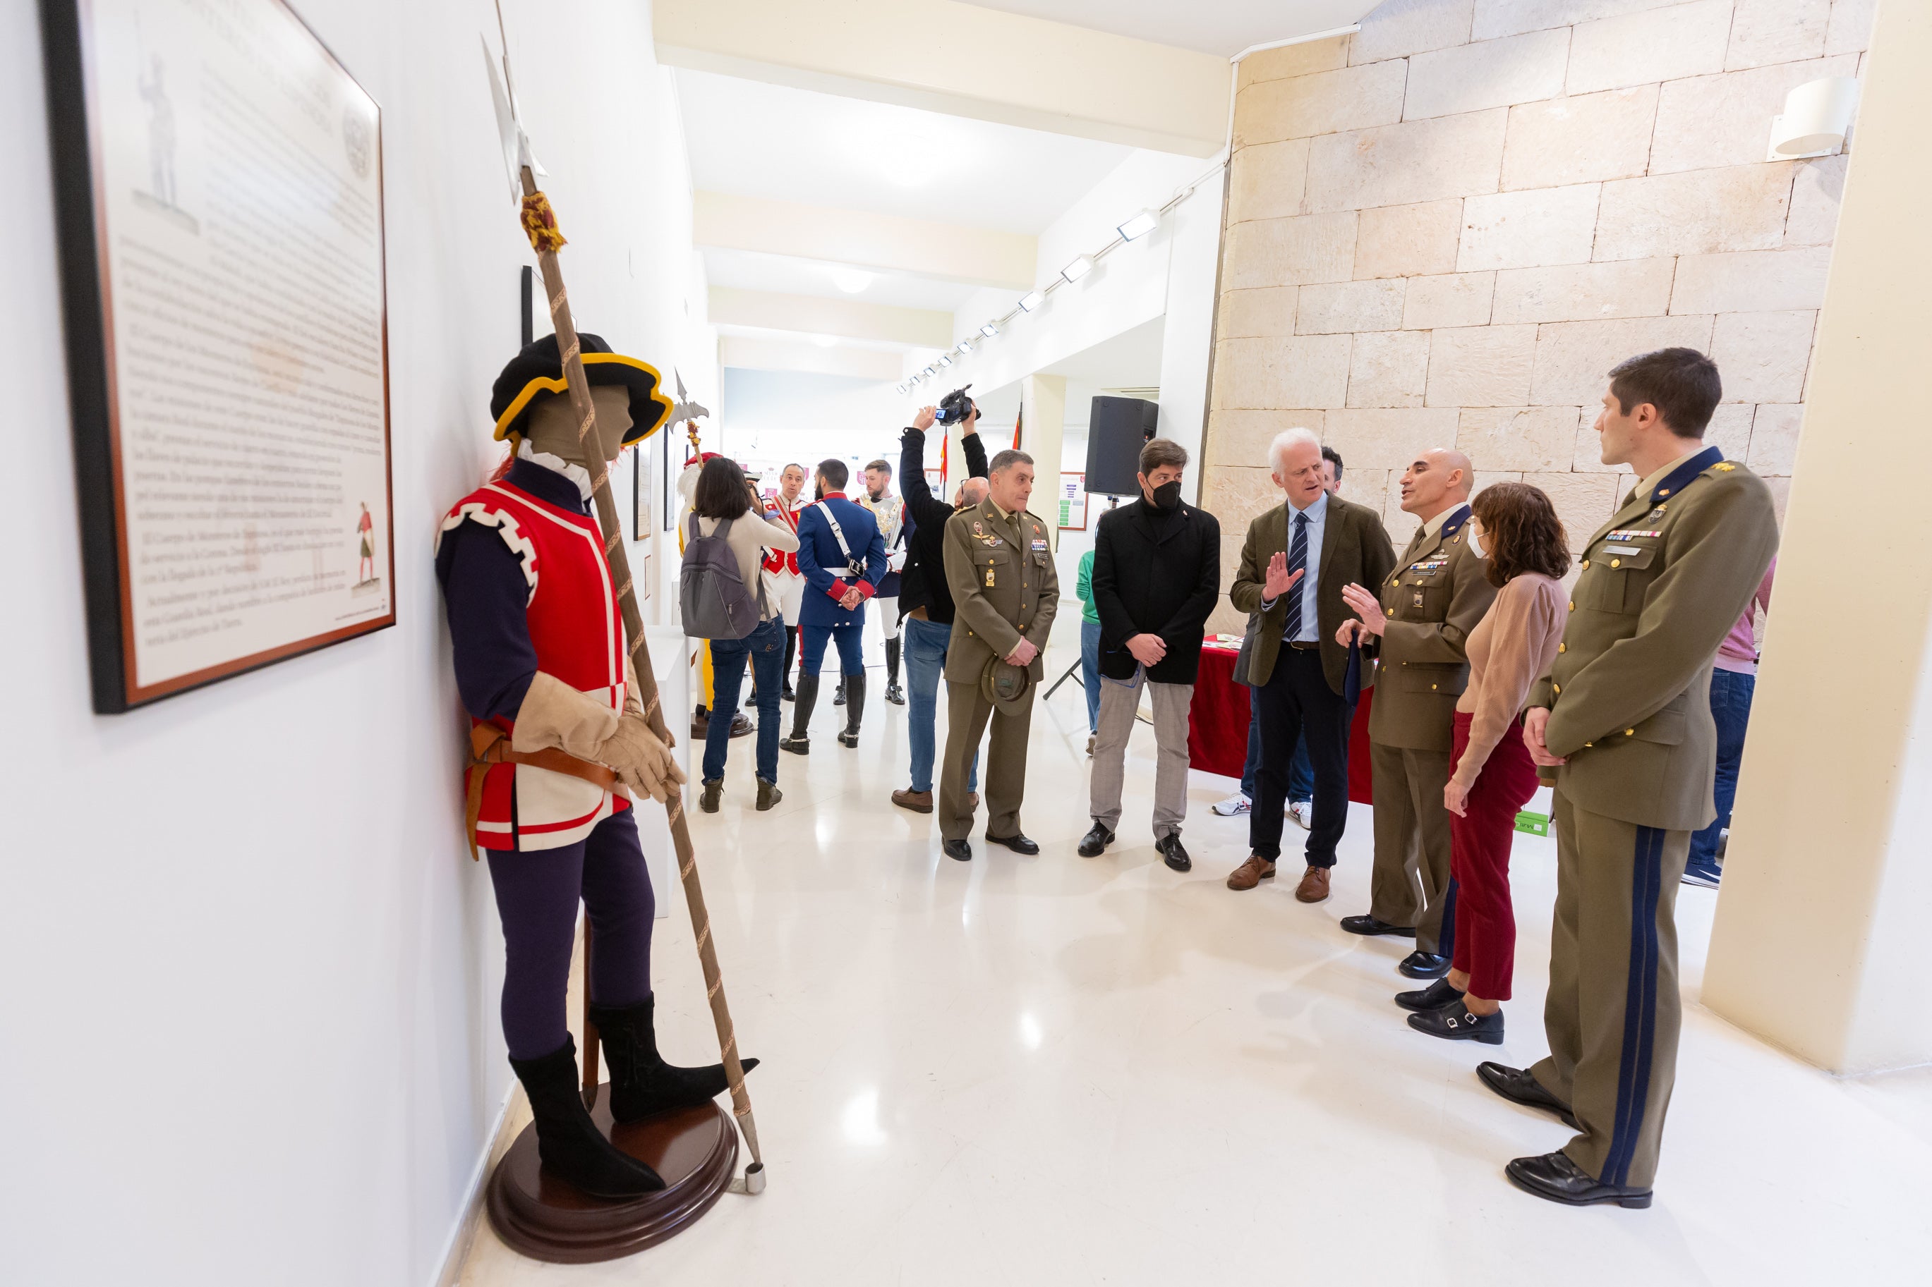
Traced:
<path fill-rule="evenodd" d="M 1198 48 L 1233 58 L 1250 44 L 1287 41 L 1358 21 L 1379 0 L 966 0 L 1057 23 Z"/>

